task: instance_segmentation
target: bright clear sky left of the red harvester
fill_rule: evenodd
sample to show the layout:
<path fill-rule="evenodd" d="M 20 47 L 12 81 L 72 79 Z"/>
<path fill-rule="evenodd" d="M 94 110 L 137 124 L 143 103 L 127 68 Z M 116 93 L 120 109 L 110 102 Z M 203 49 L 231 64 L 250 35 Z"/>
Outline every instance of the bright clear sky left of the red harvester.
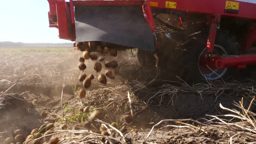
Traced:
<path fill-rule="evenodd" d="M 47 0 L 0 0 L 0 42 L 69 43 L 49 28 Z"/>

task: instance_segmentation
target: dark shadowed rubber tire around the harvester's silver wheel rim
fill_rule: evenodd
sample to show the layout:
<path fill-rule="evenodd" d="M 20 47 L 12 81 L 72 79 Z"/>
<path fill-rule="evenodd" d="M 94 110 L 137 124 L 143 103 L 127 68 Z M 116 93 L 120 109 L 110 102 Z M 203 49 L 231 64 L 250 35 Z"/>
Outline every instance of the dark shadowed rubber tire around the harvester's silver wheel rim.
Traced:
<path fill-rule="evenodd" d="M 198 67 L 198 59 L 200 53 L 205 49 L 207 43 L 208 33 L 202 33 L 202 35 L 195 39 L 194 42 L 186 48 L 187 53 L 183 56 L 180 65 L 181 79 L 187 83 L 201 83 L 205 82 L 205 78 L 201 75 Z M 241 46 L 236 41 L 236 37 L 230 35 L 228 31 L 223 29 L 217 29 L 217 35 L 215 39 L 215 45 L 222 46 L 228 55 L 240 54 Z M 226 73 L 221 77 L 224 81 L 232 76 L 238 76 L 239 72 L 236 68 L 229 68 Z"/>

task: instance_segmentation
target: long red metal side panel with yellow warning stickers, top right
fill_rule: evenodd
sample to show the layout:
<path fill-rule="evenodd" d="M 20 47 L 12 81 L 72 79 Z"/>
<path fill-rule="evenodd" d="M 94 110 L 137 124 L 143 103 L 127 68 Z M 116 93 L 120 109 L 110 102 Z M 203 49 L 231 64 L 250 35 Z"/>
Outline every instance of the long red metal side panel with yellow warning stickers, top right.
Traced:
<path fill-rule="evenodd" d="M 150 2 L 158 2 L 158 8 L 171 9 L 165 7 L 166 1 L 176 2 L 176 9 L 187 12 L 198 13 L 218 13 L 225 16 L 236 16 L 249 19 L 256 19 L 256 4 L 239 2 L 239 13 L 227 13 L 225 12 L 226 0 L 149 0 Z"/>

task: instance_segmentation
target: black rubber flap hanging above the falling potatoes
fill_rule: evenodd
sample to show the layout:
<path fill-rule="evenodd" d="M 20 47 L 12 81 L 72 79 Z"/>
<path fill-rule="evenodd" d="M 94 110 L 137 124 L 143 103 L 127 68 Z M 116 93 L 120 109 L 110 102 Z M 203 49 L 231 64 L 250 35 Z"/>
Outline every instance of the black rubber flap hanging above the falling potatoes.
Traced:
<path fill-rule="evenodd" d="M 142 7 L 77 6 L 75 31 L 78 42 L 103 41 L 154 51 L 154 35 Z"/>

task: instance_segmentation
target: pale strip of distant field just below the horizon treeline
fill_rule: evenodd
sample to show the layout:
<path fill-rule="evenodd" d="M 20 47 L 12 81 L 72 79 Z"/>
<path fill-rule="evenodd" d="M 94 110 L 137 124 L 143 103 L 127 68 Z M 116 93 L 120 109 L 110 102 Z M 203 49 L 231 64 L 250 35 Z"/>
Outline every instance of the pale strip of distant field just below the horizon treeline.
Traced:
<path fill-rule="evenodd" d="M 72 52 L 73 47 L 62 47 L 62 46 L 52 46 L 52 47 L 0 47 L 1 53 L 28 53 L 28 52 Z"/>

